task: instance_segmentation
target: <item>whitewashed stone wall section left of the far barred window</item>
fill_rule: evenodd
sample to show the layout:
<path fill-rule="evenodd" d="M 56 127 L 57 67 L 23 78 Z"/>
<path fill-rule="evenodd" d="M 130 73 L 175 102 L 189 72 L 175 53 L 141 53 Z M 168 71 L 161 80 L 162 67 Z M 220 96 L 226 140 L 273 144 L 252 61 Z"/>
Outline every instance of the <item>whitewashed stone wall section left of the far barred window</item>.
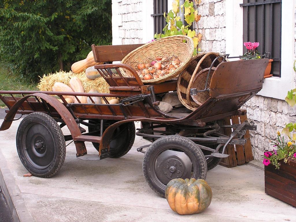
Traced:
<path fill-rule="evenodd" d="M 112 0 L 112 44 L 142 43 L 141 0 Z"/>

